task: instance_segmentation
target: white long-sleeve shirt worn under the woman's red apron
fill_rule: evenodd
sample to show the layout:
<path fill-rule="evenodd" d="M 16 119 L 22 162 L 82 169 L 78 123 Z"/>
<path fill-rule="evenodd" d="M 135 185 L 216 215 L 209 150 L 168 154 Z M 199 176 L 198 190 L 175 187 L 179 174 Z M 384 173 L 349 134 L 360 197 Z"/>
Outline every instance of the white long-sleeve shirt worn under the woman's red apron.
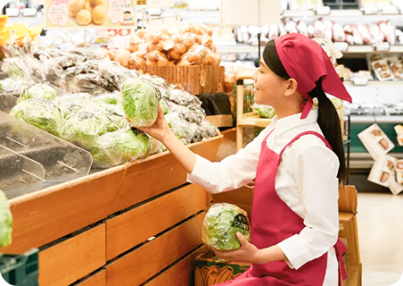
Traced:
<path fill-rule="evenodd" d="M 211 163 L 198 156 L 188 181 L 200 184 L 215 194 L 243 187 L 256 177 L 260 149 L 267 134 L 267 147 L 280 154 L 295 136 L 304 131 L 322 134 L 317 124 L 317 111 L 306 119 L 294 114 L 275 117 L 250 144 L 223 161 Z M 315 135 L 305 135 L 284 150 L 276 176 L 276 192 L 292 211 L 300 215 L 305 228 L 278 246 L 287 264 L 299 269 L 309 261 L 328 253 L 324 286 L 338 283 L 338 264 L 334 244 L 339 234 L 339 170 L 338 157 Z"/>

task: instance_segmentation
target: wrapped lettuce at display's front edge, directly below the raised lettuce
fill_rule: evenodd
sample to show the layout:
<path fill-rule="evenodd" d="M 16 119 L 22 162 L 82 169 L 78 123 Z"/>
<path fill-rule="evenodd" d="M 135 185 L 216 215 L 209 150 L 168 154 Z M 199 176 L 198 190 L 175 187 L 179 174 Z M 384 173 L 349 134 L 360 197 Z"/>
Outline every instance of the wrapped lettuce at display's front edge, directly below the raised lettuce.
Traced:
<path fill-rule="evenodd" d="M 91 148 L 95 167 L 108 168 L 147 156 L 151 140 L 140 130 L 117 130 L 105 133 Z"/>

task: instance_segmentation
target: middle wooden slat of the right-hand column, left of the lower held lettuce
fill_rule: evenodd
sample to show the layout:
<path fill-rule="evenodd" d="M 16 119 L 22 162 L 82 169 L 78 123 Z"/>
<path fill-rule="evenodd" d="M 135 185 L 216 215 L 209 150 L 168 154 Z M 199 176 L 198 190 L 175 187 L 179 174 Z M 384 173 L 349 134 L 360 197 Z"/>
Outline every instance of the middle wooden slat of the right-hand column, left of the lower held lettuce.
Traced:
<path fill-rule="evenodd" d="M 201 244 L 204 213 L 106 266 L 108 286 L 139 285 Z"/>

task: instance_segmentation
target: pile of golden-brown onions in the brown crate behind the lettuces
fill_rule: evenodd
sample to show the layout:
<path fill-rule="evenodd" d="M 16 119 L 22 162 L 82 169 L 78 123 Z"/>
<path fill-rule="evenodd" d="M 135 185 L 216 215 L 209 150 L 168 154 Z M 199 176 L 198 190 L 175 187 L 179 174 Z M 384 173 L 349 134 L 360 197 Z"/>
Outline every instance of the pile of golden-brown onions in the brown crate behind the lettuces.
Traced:
<path fill-rule="evenodd" d="M 139 29 L 127 48 L 111 50 L 108 55 L 131 70 L 144 65 L 219 65 L 221 56 L 211 36 L 212 30 L 201 24 L 189 24 L 179 31 Z"/>

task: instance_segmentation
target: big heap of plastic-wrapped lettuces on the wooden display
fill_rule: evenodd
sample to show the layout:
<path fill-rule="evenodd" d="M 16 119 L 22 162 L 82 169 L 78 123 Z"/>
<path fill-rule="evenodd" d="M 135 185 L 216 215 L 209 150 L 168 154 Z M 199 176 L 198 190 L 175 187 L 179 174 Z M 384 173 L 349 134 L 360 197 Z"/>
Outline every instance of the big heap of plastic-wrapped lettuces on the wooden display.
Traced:
<path fill-rule="evenodd" d="M 219 133 L 206 121 L 199 98 L 101 54 L 41 50 L 4 59 L 2 71 L 8 78 L 0 80 L 0 94 L 16 99 L 10 114 L 85 148 L 95 168 L 165 151 L 135 128 L 151 126 L 159 104 L 184 144 Z"/>

